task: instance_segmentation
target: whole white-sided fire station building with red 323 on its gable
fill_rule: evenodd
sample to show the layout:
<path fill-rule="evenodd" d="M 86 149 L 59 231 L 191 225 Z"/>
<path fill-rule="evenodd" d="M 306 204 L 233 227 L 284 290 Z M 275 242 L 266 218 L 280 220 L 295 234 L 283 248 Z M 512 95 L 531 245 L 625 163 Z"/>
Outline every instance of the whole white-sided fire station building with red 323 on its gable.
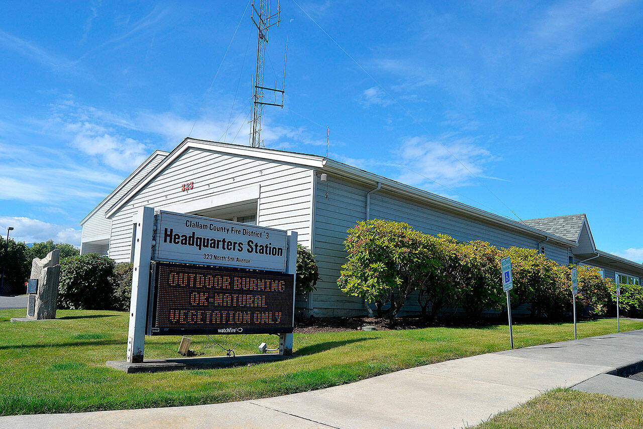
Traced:
<path fill-rule="evenodd" d="M 321 175 L 325 175 L 322 181 Z M 516 222 L 335 160 L 186 138 L 156 151 L 80 223 L 81 253 L 132 260 L 132 216 L 155 209 L 294 230 L 320 268 L 317 291 L 296 306 L 314 316 L 363 314 L 360 298 L 337 286 L 347 229 L 365 219 L 406 222 L 428 234 L 500 247 L 538 249 L 557 263 L 601 268 L 637 283 L 643 265 L 596 248 L 584 214 Z M 409 300 L 408 310 L 415 309 Z"/>

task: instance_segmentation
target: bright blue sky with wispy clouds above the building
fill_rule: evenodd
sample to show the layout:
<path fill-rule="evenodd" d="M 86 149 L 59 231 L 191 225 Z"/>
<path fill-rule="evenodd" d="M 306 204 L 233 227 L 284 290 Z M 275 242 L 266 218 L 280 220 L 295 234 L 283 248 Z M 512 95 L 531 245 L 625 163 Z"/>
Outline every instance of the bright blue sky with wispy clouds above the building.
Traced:
<path fill-rule="evenodd" d="M 288 41 L 267 147 L 323 155 L 330 126 L 332 158 L 514 219 L 586 213 L 599 248 L 643 261 L 641 1 L 297 2 L 267 47 L 272 84 Z M 3 2 L 0 227 L 78 245 L 193 124 L 247 144 L 246 6 Z"/>

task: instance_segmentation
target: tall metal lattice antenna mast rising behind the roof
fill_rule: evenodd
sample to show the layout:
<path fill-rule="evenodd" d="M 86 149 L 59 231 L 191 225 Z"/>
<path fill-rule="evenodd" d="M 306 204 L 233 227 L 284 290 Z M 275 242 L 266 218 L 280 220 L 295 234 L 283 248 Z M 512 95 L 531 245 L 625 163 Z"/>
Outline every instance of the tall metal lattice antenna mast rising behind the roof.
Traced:
<path fill-rule="evenodd" d="M 261 117 L 264 113 L 264 106 L 279 106 L 284 108 L 284 88 L 285 88 L 285 55 L 284 55 L 284 86 L 281 90 L 276 88 L 266 88 L 264 86 L 264 57 L 266 53 L 266 43 L 268 42 L 268 30 L 271 26 L 279 26 L 281 22 L 280 14 L 281 8 L 277 2 L 277 12 L 270 14 L 270 1 L 271 0 L 258 0 L 258 10 L 255 2 L 252 3 L 252 22 L 257 26 L 257 72 L 255 73 L 255 81 L 253 82 L 253 97 L 252 97 L 252 120 L 250 122 L 250 145 L 253 148 L 264 146 L 261 140 Z M 287 49 L 287 45 L 286 45 Z M 276 85 L 275 85 L 276 86 Z M 264 90 L 273 91 L 275 94 L 275 102 L 264 101 Z M 276 93 L 281 93 L 281 103 L 276 102 Z"/>

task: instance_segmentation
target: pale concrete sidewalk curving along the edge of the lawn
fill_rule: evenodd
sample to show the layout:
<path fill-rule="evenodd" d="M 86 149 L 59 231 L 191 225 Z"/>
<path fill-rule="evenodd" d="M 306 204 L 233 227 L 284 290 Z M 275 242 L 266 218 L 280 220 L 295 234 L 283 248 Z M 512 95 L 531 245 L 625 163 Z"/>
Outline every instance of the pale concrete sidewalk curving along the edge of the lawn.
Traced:
<path fill-rule="evenodd" d="M 459 428 L 643 361 L 643 330 L 466 357 L 237 403 L 0 417 L 0 428 Z"/>

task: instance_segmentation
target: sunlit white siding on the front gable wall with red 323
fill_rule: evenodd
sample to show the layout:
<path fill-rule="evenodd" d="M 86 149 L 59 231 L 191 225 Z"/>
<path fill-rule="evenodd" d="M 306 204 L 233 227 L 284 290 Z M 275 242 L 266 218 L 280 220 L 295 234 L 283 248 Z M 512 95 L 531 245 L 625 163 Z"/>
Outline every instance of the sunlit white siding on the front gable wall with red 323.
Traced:
<path fill-rule="evenodd" d="M 311 245 L 312 170 L 270 160 L 190 148 L 133 196 L 113 216 L 109 256 L 127 262 L 131 254 L 131 222 L 144 205 L 155 209 L 199 202 L 250 186 L 260 186 L 257 224 L 294 230 L 298 242 Z M 181 191 L 181 184 L 194 189 Z"/>

